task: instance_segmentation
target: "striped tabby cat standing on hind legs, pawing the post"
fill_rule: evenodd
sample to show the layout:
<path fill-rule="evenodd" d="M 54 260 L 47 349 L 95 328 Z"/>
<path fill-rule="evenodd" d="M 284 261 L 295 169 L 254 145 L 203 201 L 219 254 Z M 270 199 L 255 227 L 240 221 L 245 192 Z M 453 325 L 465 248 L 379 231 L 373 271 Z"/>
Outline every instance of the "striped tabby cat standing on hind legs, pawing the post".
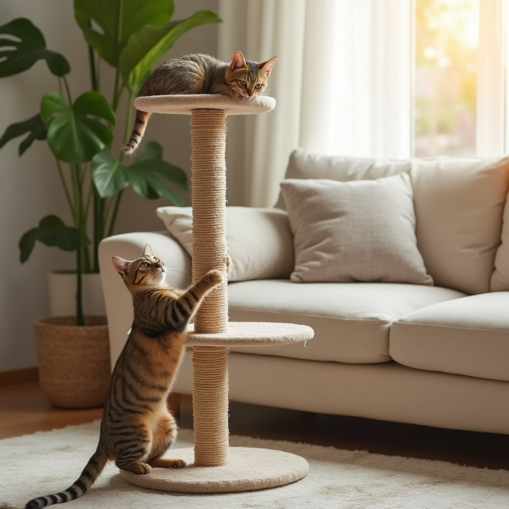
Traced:
<path fill-rule="evenodd" d="M 132 294 L 134 319 L 111 375 L 97 450 L 72 486 L 30 500 L 26 509 L 80 497 L 109 460 L 137 474 L 185 466 L 184 460 L 162 457 L 177 436 L 166 399 L 184 353 L 187 324 L 223 275 L 210 270 L 187 290 L 171 288 L 164 282 L 164 264 L 148 244 L 143 256 L 132 261 L 113 257 L 112 263 Z M 228 256 L 227 270 L 230 265 Z"/>

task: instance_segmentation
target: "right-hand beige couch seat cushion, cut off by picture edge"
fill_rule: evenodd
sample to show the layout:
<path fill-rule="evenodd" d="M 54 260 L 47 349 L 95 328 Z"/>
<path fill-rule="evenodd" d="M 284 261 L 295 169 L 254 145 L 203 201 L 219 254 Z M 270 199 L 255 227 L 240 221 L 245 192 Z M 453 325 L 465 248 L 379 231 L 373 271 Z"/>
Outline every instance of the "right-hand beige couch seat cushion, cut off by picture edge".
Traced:
<path fill-rule="evenodd" d="M 509 380 L 509 292 L 417 309 L 392 324 L 389 345 L 409 367 Z"/>

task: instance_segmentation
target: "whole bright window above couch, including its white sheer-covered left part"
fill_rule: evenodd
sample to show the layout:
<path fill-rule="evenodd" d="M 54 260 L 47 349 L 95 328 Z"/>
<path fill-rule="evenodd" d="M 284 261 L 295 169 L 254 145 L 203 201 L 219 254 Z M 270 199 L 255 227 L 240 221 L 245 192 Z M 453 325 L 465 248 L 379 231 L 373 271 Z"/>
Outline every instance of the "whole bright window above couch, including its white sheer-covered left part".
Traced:
<path fill-rule="evenodd" d="M 300 146 L 379 158 L 509 153 L 507 11 L 509 0 L 307 2 Z"/>

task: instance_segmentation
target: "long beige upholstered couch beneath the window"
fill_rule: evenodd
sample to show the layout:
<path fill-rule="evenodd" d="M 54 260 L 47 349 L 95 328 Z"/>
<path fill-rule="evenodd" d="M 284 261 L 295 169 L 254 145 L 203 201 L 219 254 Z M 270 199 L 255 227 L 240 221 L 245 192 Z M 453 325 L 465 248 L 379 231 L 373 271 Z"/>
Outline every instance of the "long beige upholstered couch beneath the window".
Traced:
<path fill-rule="evenodd" d="M 286 212 L 229 208 L 227 240 L 239 269 L 229 282 L 230 320 L 315 330 L 305 346 L 232 349 L 232 401 L 509 433 L 509 159 L 377 161 L 298 150 L 287 178 L 373 180 L 400 172 L 410 175 L 418 251 L 434 285 L 292 282 Z M 180 242 L 168 232 L 138 232 L 100 245 L 113 362 L 132 315 L 111 257 L 138 256 L 149 242 L 173 270 L 170 284 L 191 277 L 187 211 L 159 213 Z M 187 354 L 176 392 L 191 393 L 191 370 Z"/>

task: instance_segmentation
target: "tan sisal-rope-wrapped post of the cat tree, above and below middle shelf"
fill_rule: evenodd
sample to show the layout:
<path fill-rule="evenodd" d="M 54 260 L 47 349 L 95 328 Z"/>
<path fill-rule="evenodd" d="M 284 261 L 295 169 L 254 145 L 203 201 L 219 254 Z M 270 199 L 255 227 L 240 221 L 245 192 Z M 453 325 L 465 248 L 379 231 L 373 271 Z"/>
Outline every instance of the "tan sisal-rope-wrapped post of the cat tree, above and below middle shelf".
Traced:
<path fill-rule="evenodd" d="M 226 278 L 226 114 L 218 109 L 191 112 L 192 277 L 193 283 L 211 269 L 224 281 L 200 306 L 194 330 L 228 330 Z M 194 463 L 228 463 L 228 349 L 193 348 Z"/>

